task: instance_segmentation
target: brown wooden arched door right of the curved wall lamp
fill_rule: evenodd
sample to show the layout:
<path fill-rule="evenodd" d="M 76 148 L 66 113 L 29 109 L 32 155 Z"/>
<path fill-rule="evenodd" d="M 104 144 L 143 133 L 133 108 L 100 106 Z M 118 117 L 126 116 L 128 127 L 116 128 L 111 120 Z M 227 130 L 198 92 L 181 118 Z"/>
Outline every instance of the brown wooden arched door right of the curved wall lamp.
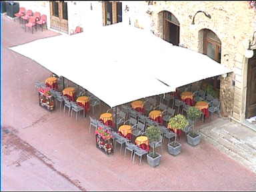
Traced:
<path fill-rule="evenodd" d="M 209 29 L 203 29 L 203 54 L 221 63 L 221 40 Z"/>

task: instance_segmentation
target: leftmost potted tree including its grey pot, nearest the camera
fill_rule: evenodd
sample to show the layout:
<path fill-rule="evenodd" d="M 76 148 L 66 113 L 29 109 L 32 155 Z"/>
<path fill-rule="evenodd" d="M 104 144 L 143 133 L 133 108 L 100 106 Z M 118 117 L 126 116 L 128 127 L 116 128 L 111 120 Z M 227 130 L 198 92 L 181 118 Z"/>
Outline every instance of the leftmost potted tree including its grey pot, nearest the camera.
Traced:
<path fill-rule="evenodd" d="M 149 139 L 149 142 L 153 143 L 153 151 L 147 153 L 147 163 L 151 165 L 151 167 L 156 167 L 160 164 L 161 155 L 155 153 L 155 143 L 161 140 L 161 131 L 159 127 L 150 126 L 146 129 L 145 135 Z"/>

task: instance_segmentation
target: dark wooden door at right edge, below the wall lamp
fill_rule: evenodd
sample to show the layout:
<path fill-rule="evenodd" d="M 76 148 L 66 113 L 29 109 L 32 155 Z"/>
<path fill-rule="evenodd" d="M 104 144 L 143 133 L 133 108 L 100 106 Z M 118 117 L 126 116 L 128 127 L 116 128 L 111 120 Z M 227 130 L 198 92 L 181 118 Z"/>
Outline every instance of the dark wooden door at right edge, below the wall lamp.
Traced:
<path fill-rule="evenodd" d="M 256 116 L 256 51 L 248 61 L 246 103 L 245 118 Z"/>

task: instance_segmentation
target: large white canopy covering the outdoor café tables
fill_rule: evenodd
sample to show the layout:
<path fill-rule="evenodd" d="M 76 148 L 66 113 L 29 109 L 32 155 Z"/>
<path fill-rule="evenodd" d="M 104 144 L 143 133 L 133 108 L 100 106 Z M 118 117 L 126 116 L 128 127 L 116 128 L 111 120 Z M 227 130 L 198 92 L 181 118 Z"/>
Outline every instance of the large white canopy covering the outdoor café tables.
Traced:
<path fill-rule="evenodd" d="M 123 23 L 11 47 L 110 107 L 231 72 L 209 57 Z"/>

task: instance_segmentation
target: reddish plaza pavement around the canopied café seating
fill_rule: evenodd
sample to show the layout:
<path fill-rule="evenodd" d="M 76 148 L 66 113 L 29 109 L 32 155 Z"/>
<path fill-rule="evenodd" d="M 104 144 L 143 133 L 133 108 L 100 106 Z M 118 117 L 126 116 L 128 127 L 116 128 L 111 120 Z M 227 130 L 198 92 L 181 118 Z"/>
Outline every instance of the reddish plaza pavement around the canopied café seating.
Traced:
<path fill-rule="evenodd" d="M 40 107 L 34 82 L 45 81 L 51 73 L 7 47 L 53 35 L 59 34 L 25 33 L 18 22 L 3 17 L 3 191 L 256 190 L 255 173 L 209 139 L 191 147 L 183 135 L 182 151 L 176 157 L 167 153 L 165 142 L 163 151 L 157 149 L 161 164 L 152 168 L 146 158 L 142 165 L 137 157 L 135 163 L 129 156 L 124 158 L 124 150 L 116 149 L 110 156 L 99 151 L 93 131 L 89 133 L 88 117 L 75 121 L 63 109 L 59 111 L 59 105 L 52 113 Z M 99 117 L 106 109 L 97 108 L 91 115 Z"/>

